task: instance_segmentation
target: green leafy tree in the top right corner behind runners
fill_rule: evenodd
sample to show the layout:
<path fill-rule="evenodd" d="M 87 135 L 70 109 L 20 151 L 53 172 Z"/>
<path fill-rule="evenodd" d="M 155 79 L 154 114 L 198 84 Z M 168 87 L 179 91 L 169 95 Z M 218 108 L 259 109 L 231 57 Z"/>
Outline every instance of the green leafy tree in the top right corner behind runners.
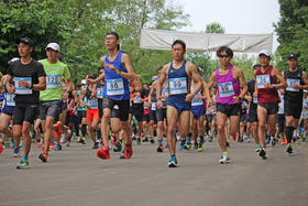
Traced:
<path fill-rule="evenodd" d="M 287 55 L 290 52 L 296 53 L 299 67 L 308 67 L 308 2 L 306 0 L 279 0 L 280 20 L 274 24 L 278 33 L 280 45 L 277 51 L 283 61 L 278 63 L 278 68 L 287 68 Z"/>

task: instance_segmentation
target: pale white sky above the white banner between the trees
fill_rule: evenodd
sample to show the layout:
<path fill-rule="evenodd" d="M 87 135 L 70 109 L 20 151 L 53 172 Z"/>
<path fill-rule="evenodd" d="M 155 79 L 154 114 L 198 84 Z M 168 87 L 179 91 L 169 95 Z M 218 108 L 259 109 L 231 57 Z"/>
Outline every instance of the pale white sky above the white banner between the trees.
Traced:
<path fill-rule="evenodd" d="M 273 22 L 280 18 L 278 0 L 174 0 L 190 14 L 191 26 L 179 31 L 200 32 L 207 24 L 218 22 L 226 34 L 274 33 Z M 278 46 L 274 35 L 273 52 Z"/>

